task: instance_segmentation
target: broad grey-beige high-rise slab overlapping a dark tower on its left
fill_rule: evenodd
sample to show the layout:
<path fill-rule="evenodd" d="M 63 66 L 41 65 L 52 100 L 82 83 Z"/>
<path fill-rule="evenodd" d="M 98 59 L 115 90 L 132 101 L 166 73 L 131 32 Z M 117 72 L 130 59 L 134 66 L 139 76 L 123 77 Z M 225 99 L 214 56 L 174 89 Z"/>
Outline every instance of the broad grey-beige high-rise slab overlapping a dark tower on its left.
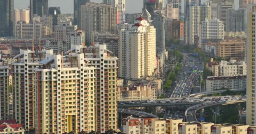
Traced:
<path fill-rule="evenodd" d="M 86 44 L 93 44 L 94 31 L 117 33 L 117 8 L 104 3 L 86 3 L 81 6 L 81 29 L 85 31 Z"/>

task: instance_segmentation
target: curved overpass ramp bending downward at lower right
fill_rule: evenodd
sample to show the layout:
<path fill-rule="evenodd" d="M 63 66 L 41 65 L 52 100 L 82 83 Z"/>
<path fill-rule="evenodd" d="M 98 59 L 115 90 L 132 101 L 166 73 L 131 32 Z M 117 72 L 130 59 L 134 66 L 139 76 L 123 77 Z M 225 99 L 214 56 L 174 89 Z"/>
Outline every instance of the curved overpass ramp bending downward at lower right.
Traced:
<path fill-rule="evenodd" d="M 222 102 L 222 103 L 212 103 L 212 104 L 208 104 L 208 105 L 204 105 L 204 106 L 200 106 L 200 107 L 196 108 L 197 106 L 200 105 L 200 104 L 197 104 L 195 106 L 191 106 L 191 107 L 187 108 L 187 110 L 185 111 L 186 120 L 187 121 L 198 121 L 196 118 L 196 113 L 197 113 L 197 111 L 199 111 L 203 108 L 207 108 L 207 107 L 211 107 L 211 106 L 220 106 L 220 105 L 231 105 L 231 104 L 243 103 L 243 102 L 246 102 L 246 101 L 243 100 L 243 101 L 229 101 L 229 102 Z M 196 108 L 196 109 L 193 110 L 193 108 Z M 188 117 L 187 112 L 192 113 L 193 117 Z"/>

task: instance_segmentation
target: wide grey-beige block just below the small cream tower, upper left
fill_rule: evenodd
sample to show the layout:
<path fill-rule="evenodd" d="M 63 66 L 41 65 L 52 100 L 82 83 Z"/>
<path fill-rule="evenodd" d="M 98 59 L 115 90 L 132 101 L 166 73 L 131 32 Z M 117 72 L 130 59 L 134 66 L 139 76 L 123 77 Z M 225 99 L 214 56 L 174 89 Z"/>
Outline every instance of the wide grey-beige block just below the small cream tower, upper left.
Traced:
<path fill-rule="evenodd" d="M 27 38 L 38 40 L 42 37 L 42 24 L 37 21 L 26 23 L 25 21 L 19 21 L 14 26 L 15 38 Z"/>

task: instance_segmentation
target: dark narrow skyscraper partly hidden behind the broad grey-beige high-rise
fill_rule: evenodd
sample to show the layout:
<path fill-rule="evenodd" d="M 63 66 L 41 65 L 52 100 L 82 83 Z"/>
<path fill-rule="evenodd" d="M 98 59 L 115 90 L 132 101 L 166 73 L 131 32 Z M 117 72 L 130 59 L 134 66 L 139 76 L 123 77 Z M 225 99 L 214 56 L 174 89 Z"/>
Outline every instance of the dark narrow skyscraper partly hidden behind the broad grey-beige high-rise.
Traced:
<path fill-rule="evenodd" d="M 90 0 L 74 0 L 74 22 L 73 25 L 77 25 L 81 28 L 81 5 L 90 2 Z"/>

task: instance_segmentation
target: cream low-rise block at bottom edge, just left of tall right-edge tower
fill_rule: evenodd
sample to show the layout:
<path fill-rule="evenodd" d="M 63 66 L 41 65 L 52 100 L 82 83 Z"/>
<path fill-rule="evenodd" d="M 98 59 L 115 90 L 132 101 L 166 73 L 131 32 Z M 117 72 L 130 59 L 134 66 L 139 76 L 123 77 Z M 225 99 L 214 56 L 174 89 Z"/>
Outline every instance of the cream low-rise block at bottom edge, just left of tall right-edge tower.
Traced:
<path fill-rule="evenodd" d="M 211 134 L 248 134 L 249 125 L 216 124 L 211 126 Z"/>

